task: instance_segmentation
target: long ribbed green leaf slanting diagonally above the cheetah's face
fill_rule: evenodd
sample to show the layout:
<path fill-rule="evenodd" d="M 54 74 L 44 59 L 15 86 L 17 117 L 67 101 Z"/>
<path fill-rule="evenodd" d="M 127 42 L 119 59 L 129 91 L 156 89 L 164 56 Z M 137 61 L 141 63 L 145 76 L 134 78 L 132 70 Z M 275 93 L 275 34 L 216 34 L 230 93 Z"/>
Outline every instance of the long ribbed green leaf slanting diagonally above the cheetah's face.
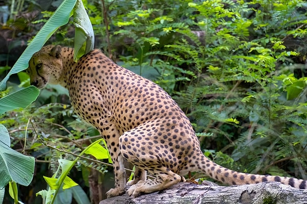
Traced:
<path fill-rule="evenodd" d="M 57 8 L 54 14 L 43 25 L 41 30 L 36 34 L 33 40 L 29 43 L 24 53 L 19 57 L 14 64 L 10 72 L 0 82 L 0 91 L 4 91 L 7 88 L 7 81 L 10 76 L 19 71 L 25 70 L 28 67 L 28 62 L 32 55 L 36 53 L 47 42 L 50 36 L 62 25 L 67 24 L 71 17 L 71 11 L 73 10 L 77 0 L 64 0 L 62 4 Z"/>

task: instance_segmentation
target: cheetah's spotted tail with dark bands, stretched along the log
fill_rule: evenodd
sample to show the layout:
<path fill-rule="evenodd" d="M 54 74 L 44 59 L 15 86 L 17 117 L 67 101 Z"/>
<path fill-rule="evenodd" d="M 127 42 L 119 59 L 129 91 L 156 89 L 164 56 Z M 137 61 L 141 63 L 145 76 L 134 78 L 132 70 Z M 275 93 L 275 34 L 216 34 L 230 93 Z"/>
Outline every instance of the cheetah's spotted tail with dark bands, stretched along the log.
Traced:
<path fill-rule="evenodd" d="M 228 185 L 257 184 L 261 182 L 280 182 L 284 185 L 290 185 L 294 188 L 307 189 L 307 181 L 305 180 L 299 180 L 291 177 L 258 175 L 232 171 L 230 169 L 215 164 L 214 162 L 208 160 L 205 156 L 201 158 L 201 162 L 198 162 L 196 166 L 198 166 L 199 169 L 201 169 L 212 179 Z"/>

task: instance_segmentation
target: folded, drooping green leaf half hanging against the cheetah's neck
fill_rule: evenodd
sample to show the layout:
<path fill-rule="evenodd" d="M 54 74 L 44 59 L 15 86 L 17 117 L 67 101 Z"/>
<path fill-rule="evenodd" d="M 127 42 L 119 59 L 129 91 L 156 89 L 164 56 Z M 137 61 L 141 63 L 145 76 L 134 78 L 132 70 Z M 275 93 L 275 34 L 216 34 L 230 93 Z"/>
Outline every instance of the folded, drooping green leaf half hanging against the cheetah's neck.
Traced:
<path fill-rule="evenodd" d="M 91 20 L 81 0 L 77 1 L 74 9 L 74 25 L 76 27 L 74 61 L 76 62 L 94 49 L 95 40 Z"/>

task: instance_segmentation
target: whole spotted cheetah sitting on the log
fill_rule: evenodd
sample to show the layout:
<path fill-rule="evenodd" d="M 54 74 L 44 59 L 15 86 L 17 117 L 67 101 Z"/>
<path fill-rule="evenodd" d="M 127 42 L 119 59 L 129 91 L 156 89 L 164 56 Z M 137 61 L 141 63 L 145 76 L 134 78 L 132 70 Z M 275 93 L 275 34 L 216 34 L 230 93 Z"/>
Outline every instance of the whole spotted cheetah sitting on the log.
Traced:
<path fill-rule="evenodd" d="M 233 171 L 204 156 L 189 119 L 157 84 L 115 64 L 95 49 L 74 62 L 74 49 L 47 45 L 29 61 L 30 83 L 43 88 L 60 84 L 69 91 L 74 111 L 96 127 L 111 155 L 115 188 L 107 197 L 137 197 L 185 181 L 188 172 L 203 172 L 228 185 L 281 182 L 299 189 L 307 183 L 291 177 Z M 133 164 L 126 184 L 124 160 Z M 146 180 L 146 172 L 156 179 Z"/>

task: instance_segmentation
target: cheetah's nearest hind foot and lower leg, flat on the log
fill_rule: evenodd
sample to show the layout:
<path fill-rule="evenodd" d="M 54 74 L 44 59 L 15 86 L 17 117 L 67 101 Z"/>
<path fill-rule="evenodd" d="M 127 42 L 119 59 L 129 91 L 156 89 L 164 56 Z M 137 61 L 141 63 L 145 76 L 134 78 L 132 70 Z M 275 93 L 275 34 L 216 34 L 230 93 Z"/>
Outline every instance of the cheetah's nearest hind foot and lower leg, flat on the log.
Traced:
<path fill-rule="evenodd" d="M 152 172 L 153 173 L 153 172 Z M 168 188 L 174 184 L 177 184 L 181 180 L 181 176 L 170 171 L 166 167 L 161 167 L 154 172 L 156 179 L 153 180 L 141 180 L 137 184 L 131 186 L 127 193 L 131 197 L 138 197 L 143 193 L 151 193 Z"/>

